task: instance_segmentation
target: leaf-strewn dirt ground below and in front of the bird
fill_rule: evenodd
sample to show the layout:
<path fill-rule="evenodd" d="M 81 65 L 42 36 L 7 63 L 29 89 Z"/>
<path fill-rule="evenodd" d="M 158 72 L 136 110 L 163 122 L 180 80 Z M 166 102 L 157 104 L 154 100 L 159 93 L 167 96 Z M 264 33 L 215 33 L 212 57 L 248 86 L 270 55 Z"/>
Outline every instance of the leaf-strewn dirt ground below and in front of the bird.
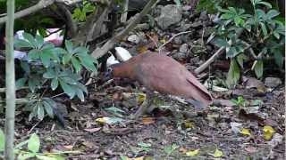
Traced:
<path fill-rule="evenodd" d="M 66 155 L 67 159 L 123 159 L 123 156 L 214 159 L 215 149 L 223 152 L 218 159 L 285 158 L 284 138 L 279 144 L 271 144 L 273 139 L 263 138 L 265 125 L 271 125 L 280 135 L 285 134 L 284 87 L 262 96 L 256 95 L 256 90 L 244 88 L 212 92 L 216 99 L 228 97 L 231 100 L 242 94 L 247 101 L 263 100 L 257 113 L 249 114 L 230 101 L 196 112 L 189 105 L 158 94 L 154 100 L 156 108 L 136 121 L 126 117 L 135 111 L 136 108 L 129 106 L 138 102 L 138 97 L 126 96 L 126 92 L 130 92 L 126 87 L 113 84 L 104 91 L 107 92 L 91 92 L 85 103 L 66 100 L 69 114 L 64 129 L 55 120 L 46 118 L 39 124 L 30 124 L 22 114 L 17 116 L 17 141 L 27 139 L 31 132 L 38 132 L 43 151 L 80 151 Z M 110 112 L 115 109 L 106 111 L 110 107 L 120 108 L 121 114 Z M 117 121 L 98 122 L 97 118 L 114 117 L 113 112 L 117 113 Z M 250 134 L 235 132 L 234 124 L 249 129 Z M 186 155 L 196 149 L 199 149 L 198 155 Z"/>

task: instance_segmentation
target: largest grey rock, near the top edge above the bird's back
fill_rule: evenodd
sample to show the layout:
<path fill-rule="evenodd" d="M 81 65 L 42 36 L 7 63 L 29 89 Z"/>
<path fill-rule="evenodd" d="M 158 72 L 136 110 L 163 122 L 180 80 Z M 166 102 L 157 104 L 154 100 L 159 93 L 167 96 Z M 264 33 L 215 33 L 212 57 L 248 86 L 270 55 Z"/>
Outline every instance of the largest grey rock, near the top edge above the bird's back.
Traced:
<path fill-rule="evenodd" d="M 155 20 L 160 28 L 169 28 L 181 21 L 181 8 L 175 4 L 165 5 L 161 10 L 161 15 Z"/>

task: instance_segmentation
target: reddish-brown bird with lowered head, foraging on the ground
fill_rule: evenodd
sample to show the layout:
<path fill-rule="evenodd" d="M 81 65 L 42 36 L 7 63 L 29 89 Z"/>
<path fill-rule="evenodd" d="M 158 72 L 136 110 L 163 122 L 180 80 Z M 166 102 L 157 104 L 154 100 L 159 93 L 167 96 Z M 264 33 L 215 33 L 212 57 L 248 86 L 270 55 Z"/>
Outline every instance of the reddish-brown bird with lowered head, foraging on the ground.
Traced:
<path fill-rule="evenodd" d="M 121 77 L 138 81 L 149 91 L 171 94 L 186 99 L 195 108 L 205 108 L 213 99 L 206 87 L 197 78 L 171 57 L 156 52 L 147 52 L 132 57 L 130 60 L 117 63 L 105 72 L 105 77 Z M 147 92 L 147 98 L 150 92 Z M 146 110 L 139 108 L 137 118 Z"/>

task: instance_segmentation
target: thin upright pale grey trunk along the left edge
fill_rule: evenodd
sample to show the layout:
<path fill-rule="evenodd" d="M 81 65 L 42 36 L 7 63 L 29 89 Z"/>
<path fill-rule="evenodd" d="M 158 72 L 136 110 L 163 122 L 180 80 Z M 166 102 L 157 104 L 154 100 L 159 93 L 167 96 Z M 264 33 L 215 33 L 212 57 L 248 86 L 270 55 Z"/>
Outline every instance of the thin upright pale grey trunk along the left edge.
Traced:
<path fill-rule="evenodd" d="M 14 0 L 7 1 L 6 20 L 6 113 L 5 113 L 5 148 L 6 160 L 13 160 L 14 120 L 15 120 L 15 67 L 13 51 L 13 28 L 14 28 Z"/>

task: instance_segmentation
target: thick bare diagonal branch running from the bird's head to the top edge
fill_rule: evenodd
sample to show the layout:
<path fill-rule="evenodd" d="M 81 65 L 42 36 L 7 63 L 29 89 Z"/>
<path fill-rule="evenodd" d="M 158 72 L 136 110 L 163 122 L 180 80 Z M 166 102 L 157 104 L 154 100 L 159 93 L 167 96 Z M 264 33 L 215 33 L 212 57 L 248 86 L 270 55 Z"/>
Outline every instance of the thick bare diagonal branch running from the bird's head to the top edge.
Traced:
<path fill-rule="evenodd" d="M 114 47 L 114 44 L 116 44 L 118 41 L 120 41 L 124 36 L 126 36 L 130 30 L 136 27 L 136 25 L 139 23 L 139 21 L 149 12 L 154 5 L 158 2 L 158 0 L 150 0 L 144 7 L 144 9 L 137 15 L 134 16 L 134 18 L 131 20 L 130 24 L 122 30 L 122 32 L 118 33 L 114 37 L 112 37 L 110 40 L 108 40 L 104 46 L 98 47 L 95 51 L 92 52 L 92 56 L 94 58 L 100 58 L 103 55 L 105 55 L 106 52 L 108 52 L 110 49 Z"/>

